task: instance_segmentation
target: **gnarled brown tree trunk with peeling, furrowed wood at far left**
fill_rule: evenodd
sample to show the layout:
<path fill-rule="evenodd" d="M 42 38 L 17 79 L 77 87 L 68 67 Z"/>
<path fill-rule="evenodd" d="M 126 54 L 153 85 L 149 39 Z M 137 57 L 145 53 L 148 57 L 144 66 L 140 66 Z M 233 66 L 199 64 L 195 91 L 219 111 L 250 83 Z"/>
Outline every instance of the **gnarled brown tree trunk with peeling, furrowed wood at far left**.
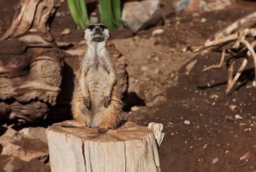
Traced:
<path fill-rule="evenodd" d="M 63 0 L 22 0 L 0 38 L 0 119 L 46 118 L 61 91 L 63 54 L 50 24 Z"/>

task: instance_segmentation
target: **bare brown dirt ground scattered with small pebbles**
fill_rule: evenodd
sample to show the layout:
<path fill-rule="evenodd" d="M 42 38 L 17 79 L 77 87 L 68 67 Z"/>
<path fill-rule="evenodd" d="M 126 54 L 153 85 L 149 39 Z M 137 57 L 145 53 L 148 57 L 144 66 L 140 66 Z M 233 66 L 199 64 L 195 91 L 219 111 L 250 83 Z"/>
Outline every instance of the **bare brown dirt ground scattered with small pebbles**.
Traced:
<path fill-rule="evenodd" d="M 225 95 L 226 67 L 201 71 L 217 63 L 220 52 L 194 54 L 189 50 L 250 13 L 251 5 L 255 7 L 255 3 L 239 1 L 236 8 L 197 17 L 173 14 L 164 25 L 136 35 L 129 30 L 112 31 L 111 42 L 128 64 L 124 118 L 144 126 L 149 122 L 164 124 L 166 135 L 159 150 L 162 171 L 256 171 L 253 67 L 249 65 L 232 93 Z M 3 34 L 9 20 L 0 18 Z M 65 28 L 71 34 L 61 35 Z M 164 32 L 152 36 L 156 29 Z M 76 29 L 65 5 L 53 20 L 51 32 L 57 42 L 82 40 L 82 30 Z M 242 161 L 245 154 L 247 160 Z"/>

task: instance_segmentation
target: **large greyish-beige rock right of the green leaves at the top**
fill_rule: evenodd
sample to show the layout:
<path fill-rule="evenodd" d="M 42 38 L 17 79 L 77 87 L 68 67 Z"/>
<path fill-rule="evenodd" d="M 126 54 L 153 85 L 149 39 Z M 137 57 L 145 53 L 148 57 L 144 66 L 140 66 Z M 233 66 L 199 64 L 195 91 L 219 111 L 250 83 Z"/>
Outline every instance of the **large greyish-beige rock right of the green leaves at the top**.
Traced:
<path fill-rule="evenodd" d="M 161 18 L 159 0 L 127 2 L 122 11 L 123 25 L 134 33 L 156 24 Z"/>

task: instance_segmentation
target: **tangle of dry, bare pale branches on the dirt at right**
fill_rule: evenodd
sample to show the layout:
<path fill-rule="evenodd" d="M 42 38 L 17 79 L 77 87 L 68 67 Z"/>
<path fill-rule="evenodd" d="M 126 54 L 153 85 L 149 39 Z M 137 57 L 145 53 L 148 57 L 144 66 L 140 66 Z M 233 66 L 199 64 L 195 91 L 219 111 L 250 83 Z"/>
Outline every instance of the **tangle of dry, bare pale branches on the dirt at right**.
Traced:
<path fill-rule="evenodd" d="M 245 70 L 247 65 L 247 57 L 253 58 L 253 66 L 255 68 L 255 81 L 256 81 L 256 54 L 255 54 L 255 37 L 256 37 L 256 12 L 253 12 L 236 22 L 226 27 L 224 30 L 216 33 L 212 38 L 207 39 L 202 46 L 193 46 L 191 50 L 193 52 L 199 52 L 205 48 L 210 48 L 212 46 L 222 46 L 222 55 L 220 59 L 220 64 L 212 65 L 203 69 L 203 71 L 208 71 L 210 69 L 216 69 L 222 67 L 224 64 L 224 57 L 226 53 L 229 53 L 232 58 L 228 67 L 228 84 L 226 87 L 226 94 L 230 93 L 232 87 L 240 77 L 241 73 Z M 251 41 L 253 39 L 253 41 Z M 233 44 L 232 48 L 227 48 L 228 44 Z M 232 50 L 236 50 L 234 53 Z M 243 62 L 241 67 L 236 72 L 233 77 L 234 64 L 238 56 L 243 56 Z"/>

